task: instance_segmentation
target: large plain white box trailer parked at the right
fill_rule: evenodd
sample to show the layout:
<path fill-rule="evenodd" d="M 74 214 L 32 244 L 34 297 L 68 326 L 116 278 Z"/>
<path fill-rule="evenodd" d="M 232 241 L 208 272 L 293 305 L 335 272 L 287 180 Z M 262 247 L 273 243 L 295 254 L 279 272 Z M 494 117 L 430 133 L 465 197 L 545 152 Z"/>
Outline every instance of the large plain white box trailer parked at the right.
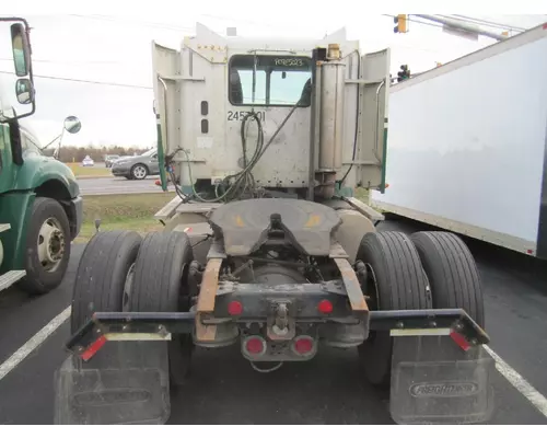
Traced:
<path fill-rule="evenodd" d="M 375 208 L 547 258 L 547 23 L 393 85 Z"/>

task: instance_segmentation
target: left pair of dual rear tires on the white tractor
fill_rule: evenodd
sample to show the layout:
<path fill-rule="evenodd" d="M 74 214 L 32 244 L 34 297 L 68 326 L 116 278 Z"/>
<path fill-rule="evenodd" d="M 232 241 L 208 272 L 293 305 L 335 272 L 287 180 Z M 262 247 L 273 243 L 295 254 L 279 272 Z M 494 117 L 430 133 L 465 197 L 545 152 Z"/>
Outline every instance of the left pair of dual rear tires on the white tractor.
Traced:
<path fill-rule="evenodd" d="M 72 293 L 71 332 L 94 312 L 179 312 L 190 308 L 189 265 L 194 254 L 181 232 L 154 232 L 142 239 L 133 231 L 97 233 L 85 247 Z M 170 380 L 185 382 L 193 353 L 191 335 L 167 343 Z M 96 360 L 113 366 L 116 354 Z M 95 360 L 95 359 L 94 359 Z"/>

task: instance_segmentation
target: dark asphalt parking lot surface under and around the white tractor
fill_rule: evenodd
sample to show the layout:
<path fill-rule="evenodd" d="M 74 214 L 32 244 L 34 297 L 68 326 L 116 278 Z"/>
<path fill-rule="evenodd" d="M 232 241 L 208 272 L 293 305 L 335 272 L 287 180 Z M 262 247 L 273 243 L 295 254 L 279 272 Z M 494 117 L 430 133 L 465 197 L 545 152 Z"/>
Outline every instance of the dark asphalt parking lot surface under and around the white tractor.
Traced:
<path fill-rule="evenodd" d="M 414 232 L 426 226 L 388 220 L 380 228 Z M 472 242 L 470 249 L 480 270 L 490 347 L 504 360 L 492 378 L 497 406 L 489 423 L 545 425 L 547 265 L 482 243 Z M 62 345 L 68 322 L 50 336 L 38 333 L 32 339 L 37 348 L 21 347 L 69 306 L 82 251 L 83 245 L 73 246 L 58 290 L 34 299 L 16 290 L 0 295 L 0 424 L 53 423 L 54 372 L 67 357 Z M 12 368 L 10 364 L 19 362 L 12 356 L 15 351 L 28 356 Z M 237 346 L 198 349 L 189 385 L 172 397 L 168 423 L 393 424 L 387 400 L 387 393 L 366 383 L 354 350 L 323 348 L 310 362 L 260 374 L 241 357 Z"/>

